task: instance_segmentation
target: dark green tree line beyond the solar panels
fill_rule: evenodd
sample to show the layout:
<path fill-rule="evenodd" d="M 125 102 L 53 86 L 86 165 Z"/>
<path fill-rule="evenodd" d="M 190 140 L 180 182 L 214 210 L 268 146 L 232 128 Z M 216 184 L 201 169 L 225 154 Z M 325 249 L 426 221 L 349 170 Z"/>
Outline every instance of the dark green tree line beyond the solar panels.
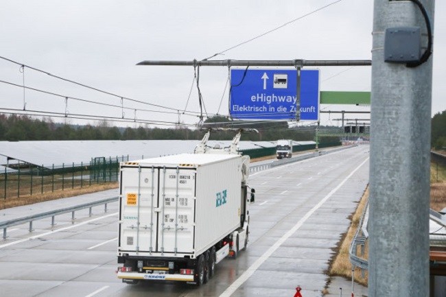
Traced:
<path fill-rule="evenodd" d="M 256 128 L 259 133 L 246 133 L 244 141 L 277 141 L 293 139 L 294 141 L 314 141 L 314 129 L 289 129 L 286 121 L 273 121 L 251 125 L 230 121 L 226 117 L 215 116 L 204 121 L 204 126 L 219 128 Z M 50 118 L 35 119 L 27 115 L 0 114 L 0 141 L 70 141 L 70 140 L 200 140 L 205 131 L 178 125 L 174 128 L 122 128 L 110 126 L 107 121 L 97 125 L 72 125 L 55 123 Z M 231 140 L 233 131 L 222 130 L 212 133 L 212 140 Z M 336 142 L 338 138 L 324 137 L 320 142 Z"/>

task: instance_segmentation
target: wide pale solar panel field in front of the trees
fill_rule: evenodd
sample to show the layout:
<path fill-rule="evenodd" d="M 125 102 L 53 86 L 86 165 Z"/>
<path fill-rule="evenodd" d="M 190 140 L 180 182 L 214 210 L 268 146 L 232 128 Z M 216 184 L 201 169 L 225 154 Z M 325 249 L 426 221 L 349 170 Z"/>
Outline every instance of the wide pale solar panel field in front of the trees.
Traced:
<path fill-rule="evenodd" d="M 301 141 L 300 144 L 314 143 Z M 51 168 L 53 165 L 89 163 L 92 158 L 105 157 L 119 161 L 152 158 L 171 154 L 193 152 L 200 141 L 150 140 L 150 141 L 0 141 L 0 164 L 6 157 L 21 162 Z M 232 141 L 208 141 L 214 147 L 229 147 Z M 297 143 L 294 143 L 297 145 Z M 275 147 L 275 141 L 240 141 L 239 150 Z M 11 162 L 10 162 L 11 163 Z M 1 170 L 1 167 L 0 167 Z M 4 171 L 4 168 L 3 168 Z M 1 171 L 0 171 L 1 172 Z"/>

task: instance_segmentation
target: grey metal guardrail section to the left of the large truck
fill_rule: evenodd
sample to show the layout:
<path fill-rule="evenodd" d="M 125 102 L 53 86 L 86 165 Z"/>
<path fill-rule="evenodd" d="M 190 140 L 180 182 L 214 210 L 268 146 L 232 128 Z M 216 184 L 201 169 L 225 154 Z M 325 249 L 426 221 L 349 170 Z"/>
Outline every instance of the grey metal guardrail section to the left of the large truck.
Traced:
<path fill-rule="evenodd" d="M 106 199 L 98 200 L 95 202 L 89 202 L 89 203 L 84 203 L 84 204 L 80 204 L 80 205 L 76 205 L 76 206 L 66 207 L 64 209 L 56 209 L 54 211 L 47 211 L 45 213 L 38 213 L 36 215 L 28 215 L 27 217 L 19 217 L 19 219 L 10 219 L 8 221 L 0 222 L 0 229 L 3 229 L 3 239 L 5 239 L 7 237 L 6 232 L 9 227 L 30 223 L 30 232 L 32 232 L 34 230 L 32 228 L 32 222 L 34 222 L 38 219 L 45 219 L 47 217 L 51 217 L 51 226 L 54 226 L 55 225 L 54 217 L 56 215 L 62 215 L 64 213 L 71 213 L 71 219 L 75 219 L 75 217 L 74 217 L 75 211 L 80 211 L 82 209 L 90 209 L 89 216 L 91 216 L 91 209 L 93 208 L 93 206 L 98 206 L 98 205 L 104 204 L 104 207 L 105 207 L 104 211 L 107 212 L 107 204 L 111 203 L 111 202 L 116 202 L 117 200 L 118 200 L 118 197 L 106 198 Z"/>

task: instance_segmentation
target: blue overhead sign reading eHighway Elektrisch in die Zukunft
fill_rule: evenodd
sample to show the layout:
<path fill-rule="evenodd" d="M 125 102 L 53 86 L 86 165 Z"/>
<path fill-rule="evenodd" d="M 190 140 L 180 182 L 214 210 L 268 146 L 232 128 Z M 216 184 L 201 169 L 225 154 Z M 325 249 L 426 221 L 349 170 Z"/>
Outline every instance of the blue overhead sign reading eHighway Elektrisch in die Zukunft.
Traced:
<path fill-rule="evenodd" d="M 231 69 L 235 119 L 296 119 L 297 71 Z M 319 71 L 301 71 L 301 120 L 319 120 Z"/>

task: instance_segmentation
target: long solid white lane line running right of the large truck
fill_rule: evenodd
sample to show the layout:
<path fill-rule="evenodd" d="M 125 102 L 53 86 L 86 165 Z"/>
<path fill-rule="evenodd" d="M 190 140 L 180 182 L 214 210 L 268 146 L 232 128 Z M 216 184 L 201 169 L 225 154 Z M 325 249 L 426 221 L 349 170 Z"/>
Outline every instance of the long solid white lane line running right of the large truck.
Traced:
<path fill-rule="evenodd" d="M 235 282 L 230 285 L 221 295 L 220 297 L 229 297 L 231 296 L 241 285 L 243 285 L 243 283 L 245 281 L 248 280 L 248 278 L 250 278 L 250 276 L 252 276 L 254 274 L 254 272 L 256 272 L 257 269 L 259 269 L 260 265 L 262 265 L 271 255 L 273 252 L 275 252 L 281 245 L 282 243 L 284 243 L 291 235 L 293 235 L 298 228 L 301 228 L 301 226 L 303 225 L 303 223 L 305 223 L 307 221 L 307 219 L 315 212 L 317 211 L 320 206 L 322 206 L 322 204 L 324 204 L 325 202 L 327 202 L 327 200 L 334 194 L 336 193 L 336 191 L 338 191 L 338 189 L 340 189 L 340 187 L 342 187 L 344 185 L 345 182 L 347 182 L 347 180 L 349 180 L 349 178 L 351 178 L 351 176 L 353 176 L 353 174 L 355 174 L 355 172 L 360 169 L 362 167 L 362 165 L 364 165 L 369 158 L 366 158 L 366 160 L 364 162 L 362 162 L 358 167 L 356 167 L 355 170 L 351 171 L 351 173 L 349 174 L 349 176 L 347 176 L 347 178 L 344 178 L 344 180 L 342 180 L 342 182 L 340 182 L 340 184 L 338 185 L 338 187 L 334 188 L 333 190 L 330 191 L 330 193 L 328 193 L 322 200 L 320 200 L 320 202 L 318 204 L 316 204 L 312 209 L 310 209 L 308 211 L 308 213 L 306 213 L 302 219 L 300 219 L 296 225 L 293 226 L 293 228 L 291 228 L 290 230 L 288 230 L 287 233 L 285 233 L 285 235 L 283 235 L 281 238 L 279 238 L 279 240 L 277 240 L 270 248 L 268 248 L 268 250 L 266 252 L 264 252 L 261 257 L 259 257 L 259 259 L 257 259 L 253 265 L 250 265 L 250 267 L 241 275 L 239 276 L 239 278 L 237 278 L 235 280 Z"/>

